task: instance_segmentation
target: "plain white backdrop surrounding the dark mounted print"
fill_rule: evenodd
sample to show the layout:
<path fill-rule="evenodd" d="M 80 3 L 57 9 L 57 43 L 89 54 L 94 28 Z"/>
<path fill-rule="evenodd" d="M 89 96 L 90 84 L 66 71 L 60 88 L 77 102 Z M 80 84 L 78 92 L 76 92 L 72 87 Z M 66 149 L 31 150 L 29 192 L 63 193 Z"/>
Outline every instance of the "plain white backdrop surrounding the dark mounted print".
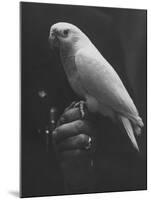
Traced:
<path fill-rule="evenodd" d="M 53 0 L 32 2 L 63 3 L 93 5 L 120 8 L 148 9 L 148 91 L 151 91 L 149 80 L 151 55 L 151 5 L 150 0 Z M 11 200 L 19 191 L 19 1 L 7 0 L 0 3 L 0 199 Z M 151 102 L 148 93 L 148 102 Z M 148 128 L 150 129 L 151 109 L 148 104 Z M 151 145 L 148 130 L 148 155 Z M 148 156 L 148 169 L 151 159 Z M 103 199 L 103 200 L 148 200 L 151 190 L 150 170 L 148 170 L 148 191 L 115 192 L 90 195 L 74 195 L 72 199 Z M 42 197 L 43 198 L 43 197 Z M 37 199 L 42 199 L 37 198 Z M 44 197 L 45 199 L 50 197 Z M 51 197 L 51 199 L 70 199 L 71 196 Z M 31 198 L 29 198 L 31 199 Z"/>

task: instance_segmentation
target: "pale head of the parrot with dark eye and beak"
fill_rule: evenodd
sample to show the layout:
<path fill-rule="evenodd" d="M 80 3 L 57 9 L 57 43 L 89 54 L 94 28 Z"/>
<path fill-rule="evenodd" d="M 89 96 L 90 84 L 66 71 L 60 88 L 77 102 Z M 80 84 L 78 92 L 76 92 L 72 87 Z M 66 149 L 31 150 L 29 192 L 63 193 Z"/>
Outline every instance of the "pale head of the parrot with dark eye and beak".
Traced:
<path fill-rule="evenodd" d="M 75 25 L 59 22 L 51 26 L 49 42 L 51 47 L 61 45 L 73 45 L 81 39 L 88 39 L 87 36 Z"/>

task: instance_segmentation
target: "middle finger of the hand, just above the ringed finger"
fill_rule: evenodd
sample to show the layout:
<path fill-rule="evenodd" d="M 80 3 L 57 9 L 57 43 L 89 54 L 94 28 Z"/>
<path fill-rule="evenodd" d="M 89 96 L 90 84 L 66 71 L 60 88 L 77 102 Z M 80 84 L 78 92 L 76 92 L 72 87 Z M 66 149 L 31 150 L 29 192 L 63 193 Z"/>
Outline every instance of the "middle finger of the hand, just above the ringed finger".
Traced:
<path fill-rule="evenodd" d="M 58 143 L 59 141 L 67 137 L 72 137 L 82 133 L 89 135 L 90 134 L 89 126 L 85 121 L 76 120 L 57 127 L 53 131 L 52 137 L 55 140 L 55 142 Z"/>

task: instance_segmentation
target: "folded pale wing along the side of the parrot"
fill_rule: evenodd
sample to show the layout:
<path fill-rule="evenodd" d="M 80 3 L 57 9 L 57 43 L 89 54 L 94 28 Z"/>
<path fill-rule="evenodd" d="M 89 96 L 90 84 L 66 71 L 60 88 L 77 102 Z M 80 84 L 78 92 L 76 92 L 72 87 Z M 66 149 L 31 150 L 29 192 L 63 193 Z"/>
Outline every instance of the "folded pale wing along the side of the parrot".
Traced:
<path fill-rule="evenodd" d="M 91 96 L 127 118 L 137 118 L 137 109 L 122 81 L 95 47 L 79 50 L 75 64 L 82 85 Z"/>

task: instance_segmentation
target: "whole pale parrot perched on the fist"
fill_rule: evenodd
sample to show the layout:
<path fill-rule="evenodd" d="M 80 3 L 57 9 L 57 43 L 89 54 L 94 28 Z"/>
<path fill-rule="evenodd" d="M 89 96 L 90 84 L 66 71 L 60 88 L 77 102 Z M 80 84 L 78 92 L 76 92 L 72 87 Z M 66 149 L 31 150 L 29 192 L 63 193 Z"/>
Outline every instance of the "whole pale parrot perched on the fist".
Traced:
<path fill-rule="evenodd" d="M 52 25 L 49 42 L 59 48 L 68 81 L 72 89 L 85 99 L 88 110 L 113 120 L 119 119 L 139 151 L 134 133 L 141 133 L 143 121 L 111 64 L 73 24 L 59 22 Z"/>

